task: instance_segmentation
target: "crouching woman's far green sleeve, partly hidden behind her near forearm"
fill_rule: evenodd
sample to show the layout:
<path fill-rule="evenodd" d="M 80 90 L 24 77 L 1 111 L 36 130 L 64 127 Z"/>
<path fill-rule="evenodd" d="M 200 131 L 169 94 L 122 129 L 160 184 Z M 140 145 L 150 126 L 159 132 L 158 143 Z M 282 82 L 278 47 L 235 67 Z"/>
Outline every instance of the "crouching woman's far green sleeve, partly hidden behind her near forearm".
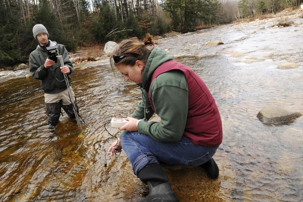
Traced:
<path fill-rule="evenodd" d="M 136 119 L 143 119 L 144 118 L 144 103 L 146 104 L 145 109 L 147 109 L 146 113 L 146 119 L 149 120 L 151 118 L 151 116 L 155 113 L 154 110 L 151 108 L 151 104 L 149 102 L 148 99 L 148 94 L 147 92 L 143 89 L 142 92 L 142 100 L 139 102 L 136 110 L 134 111 L 134 113 L 132 114 L 132 118 L 136 118 Z M 122 135 L 126 132 L 126 130 L 122 131 L 119 134 L 119 138 L 121 139 Z"/>

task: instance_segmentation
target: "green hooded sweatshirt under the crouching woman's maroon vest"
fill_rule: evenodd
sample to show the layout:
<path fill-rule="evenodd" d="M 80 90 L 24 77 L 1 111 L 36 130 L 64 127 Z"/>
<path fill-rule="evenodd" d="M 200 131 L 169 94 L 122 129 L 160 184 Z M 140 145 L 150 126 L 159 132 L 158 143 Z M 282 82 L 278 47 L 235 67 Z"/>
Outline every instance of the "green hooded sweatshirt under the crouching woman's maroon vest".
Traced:
<path fill-rule="evenodd" d="M 138 122 L 138 132 L 161 142 L 176 142 L 181 139 L 188 113 L 188 86 L 185 75 L 178 70 L 169 71 L 155 78 L 150 87 L 151 99 L 161 122 L 148 122 L 154 114 L 148 99 L 151 76 L 157 67 L 172 59 L 173 56 L 158 48 L 151 51 L 142 75 L 142 100 L 132 115 L 137 119 L 145 118 Z M 125 131 L 119 137 L 124 133 Z"/>

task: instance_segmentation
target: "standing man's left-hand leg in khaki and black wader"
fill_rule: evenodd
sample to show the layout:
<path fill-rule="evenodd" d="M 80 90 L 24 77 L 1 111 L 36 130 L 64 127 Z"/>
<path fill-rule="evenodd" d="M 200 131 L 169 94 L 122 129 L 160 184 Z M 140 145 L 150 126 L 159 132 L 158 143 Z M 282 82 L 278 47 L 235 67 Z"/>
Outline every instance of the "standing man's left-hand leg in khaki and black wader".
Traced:
<path fill-rule="evenodd" d="M 45 98 L 45 107 L 46 107 L 46 115 L 47 115 L 47 123 L 48 125 L 57 125 L 60 118 L 61 113 L 61 101 L 59 98 L 59 94 L 44 94 Z"/>

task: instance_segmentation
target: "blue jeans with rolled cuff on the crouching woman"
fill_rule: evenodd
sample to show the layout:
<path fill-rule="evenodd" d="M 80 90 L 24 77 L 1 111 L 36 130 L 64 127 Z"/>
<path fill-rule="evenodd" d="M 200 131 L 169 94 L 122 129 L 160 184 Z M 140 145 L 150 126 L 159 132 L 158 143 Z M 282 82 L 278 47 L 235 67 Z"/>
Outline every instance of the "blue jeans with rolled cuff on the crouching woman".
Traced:
<path fill-rule="evenodd" d="M 158 142 L 138 131 L 124 133 L 121 142 L 136 176 L 146 165 L 159 161 L 177 166 L 202 165 L 218 148 L 194 145 L 184 135 L 178 142 Z"/>

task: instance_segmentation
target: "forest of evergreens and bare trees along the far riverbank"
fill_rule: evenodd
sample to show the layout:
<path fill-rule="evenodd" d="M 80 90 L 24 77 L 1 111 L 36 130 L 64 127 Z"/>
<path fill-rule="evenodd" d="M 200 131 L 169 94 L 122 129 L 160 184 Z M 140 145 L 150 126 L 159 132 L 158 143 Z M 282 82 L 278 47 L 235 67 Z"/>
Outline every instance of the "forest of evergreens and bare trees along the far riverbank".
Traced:
<path fill-rule="evenodd" d="M 68 51 L 145 33 L 187 33 L 276 13 L 303 0 L 0 0 L 0 67 L 28 59 L 37 46 L 32 27 Z"/>

